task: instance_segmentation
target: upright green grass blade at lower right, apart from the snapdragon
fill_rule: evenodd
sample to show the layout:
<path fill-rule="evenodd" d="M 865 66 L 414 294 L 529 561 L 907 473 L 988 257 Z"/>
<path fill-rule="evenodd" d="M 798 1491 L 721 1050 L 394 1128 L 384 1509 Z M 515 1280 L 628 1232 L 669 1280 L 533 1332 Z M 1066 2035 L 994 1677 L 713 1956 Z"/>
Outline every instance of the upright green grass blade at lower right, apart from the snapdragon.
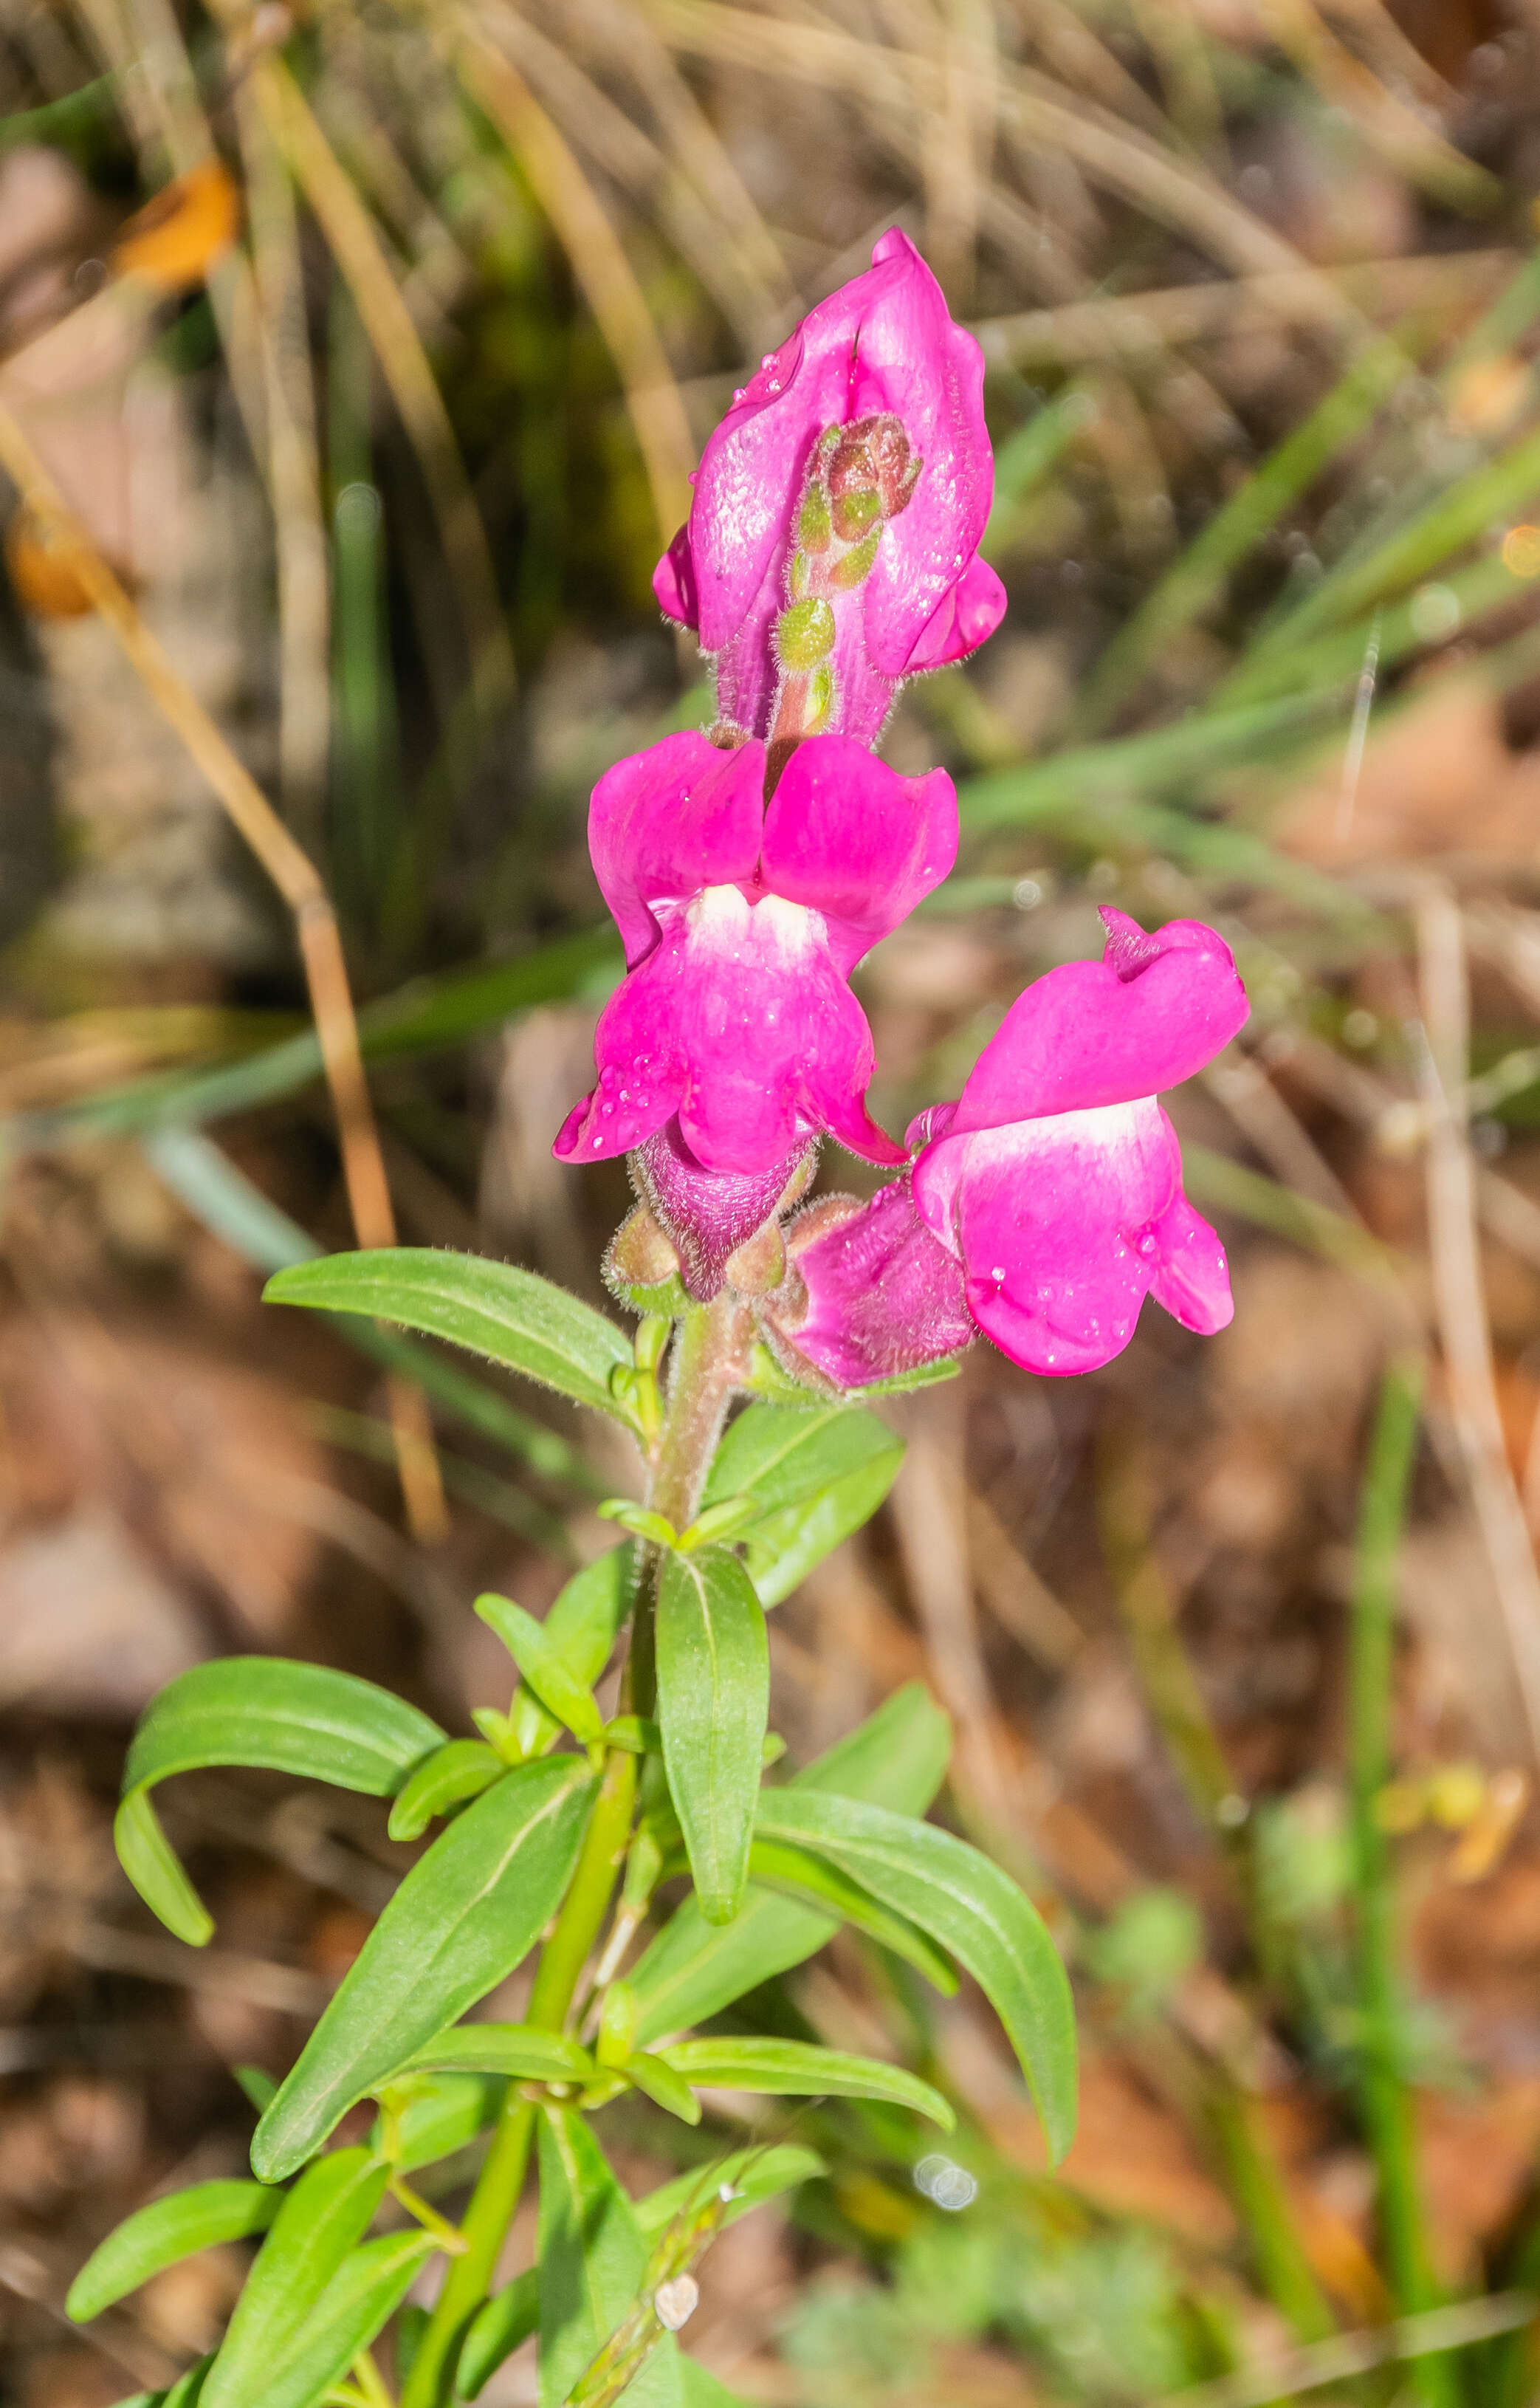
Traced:
<path fill-rule="evenodd" d="M 1396 1963 L 1396 1898 L 1379 1792 L 1391 1777 L 1391 1671 L 1396 1560 L 1417 1447 L 1420 1365 L 1393 1363 L 1379 1399 L 1357 1527 L 1350 1647 L 1352 1864 L 1357 1895 L 1360 2112 L 1379 2174 L 1379 2237 L 1398 2316 L 1439 2304 L 1427 2264 L 1417 2143 L 1403 2068 L 1405 2006 Z M 1458 2398 L 1451 2357 L 1424 2357 L 1412 2377 L 1424 2408 Z"/>

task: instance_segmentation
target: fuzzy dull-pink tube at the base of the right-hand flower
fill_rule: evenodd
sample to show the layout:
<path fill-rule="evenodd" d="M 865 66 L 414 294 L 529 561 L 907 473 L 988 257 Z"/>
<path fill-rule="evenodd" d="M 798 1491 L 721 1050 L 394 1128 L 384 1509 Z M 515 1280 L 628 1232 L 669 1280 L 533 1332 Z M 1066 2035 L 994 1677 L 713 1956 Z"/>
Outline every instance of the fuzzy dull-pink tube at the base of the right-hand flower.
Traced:
<path fill-rule="evenodd" d="M 910 1182 L 881 1194 L 792 1257 L 808 1293 L 787 1336 L 837 1387 L 864 1387 L 941 1363 L 972 1344 L 962 1274 L 910 1202 Z"/>

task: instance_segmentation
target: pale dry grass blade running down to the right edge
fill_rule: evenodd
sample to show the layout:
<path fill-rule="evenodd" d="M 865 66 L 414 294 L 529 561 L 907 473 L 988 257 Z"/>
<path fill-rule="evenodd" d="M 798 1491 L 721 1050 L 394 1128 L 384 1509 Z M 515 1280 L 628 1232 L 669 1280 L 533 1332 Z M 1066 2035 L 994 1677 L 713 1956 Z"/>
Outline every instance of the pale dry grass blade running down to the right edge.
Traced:
<path fill-rule="evenodd" d="M 1422 1057 L 1427 1221 L 1449 1411 L 1502 1599 L 1530 1741 L 1540 1755 L 1540 1575 L 1535 1572 L 1523 1503 L 1509 1469 L 1497 1401 L 1477 1240 L 1475 1165 L 1461 1103 L 1470 1057 L 1465 942 L 1458 903 L 1437 879 L 1420 886 L 1415 917 L 1427 1028 Z"/>

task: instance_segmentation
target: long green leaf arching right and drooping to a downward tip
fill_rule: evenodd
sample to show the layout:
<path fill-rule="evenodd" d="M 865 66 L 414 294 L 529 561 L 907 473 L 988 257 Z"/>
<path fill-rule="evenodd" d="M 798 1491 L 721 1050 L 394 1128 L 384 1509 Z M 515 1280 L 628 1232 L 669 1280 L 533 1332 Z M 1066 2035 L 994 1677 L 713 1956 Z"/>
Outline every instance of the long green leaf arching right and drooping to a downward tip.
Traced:
<path fill-rule="evenodd" d="M 765 1792 L 760 1830 L 828 1857 L 929 1931 L 1006 2025 L 1054 2160 L 1076 2131 L 1076 2013 L 1042 1917 L 989 1857 L 948 1830 L 859 1799 Z"/>

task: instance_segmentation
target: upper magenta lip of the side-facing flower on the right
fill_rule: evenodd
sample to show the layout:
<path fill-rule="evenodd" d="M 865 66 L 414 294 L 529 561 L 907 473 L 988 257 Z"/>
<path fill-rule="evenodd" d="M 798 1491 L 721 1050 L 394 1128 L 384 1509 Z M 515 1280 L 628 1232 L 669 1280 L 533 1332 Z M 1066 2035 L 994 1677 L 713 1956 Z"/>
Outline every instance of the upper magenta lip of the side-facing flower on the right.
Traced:
<path fill-rule="evenodd" d="M 1027 987 L 979 1055 L 955 1129 L 1131 1103 L 1213 1062 L 1249 1014 L 1230 946 L 1196 920 L 1172 920 L 1143 946 L 1148 958 L 1129 968 L 1138 946 L 1119 927 L 1116 961 L 1071 961 Z"/>

